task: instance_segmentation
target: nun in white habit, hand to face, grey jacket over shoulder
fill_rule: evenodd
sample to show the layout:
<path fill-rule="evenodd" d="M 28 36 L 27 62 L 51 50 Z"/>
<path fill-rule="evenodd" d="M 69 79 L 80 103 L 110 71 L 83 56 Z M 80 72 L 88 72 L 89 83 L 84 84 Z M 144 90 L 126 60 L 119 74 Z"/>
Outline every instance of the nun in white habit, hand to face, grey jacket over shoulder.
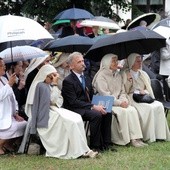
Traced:
<path fill-rule="evenodd" d="M 26 111 L 31 110 L 31 133 L 38 132 L 48 157 L 95 157 L 98 153 L 87 145 L 81 116 L 61 107 L 63 98 L 57 80 L 56 69 L 46 64 L 40 68 L 30 87 Z"/>

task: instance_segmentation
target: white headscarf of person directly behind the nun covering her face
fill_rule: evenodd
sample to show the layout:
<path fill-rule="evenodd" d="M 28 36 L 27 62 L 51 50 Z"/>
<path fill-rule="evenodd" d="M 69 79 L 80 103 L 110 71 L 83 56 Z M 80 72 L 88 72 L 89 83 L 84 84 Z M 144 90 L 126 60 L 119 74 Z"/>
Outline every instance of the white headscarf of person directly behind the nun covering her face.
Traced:
<path fill-rule="evenodd" d="M 28 74 L 31 71 L 33 71 L 35 68 L 37 68 L 40 64 L 42 64 L 46 60 L 47 57 L 49 57 L 49 54 L 47 54 L 45 57 L 34 58 L 31 60 L 29 66 L 25 69 L 25 72 L 24 72 L 25 80 L 27 79 Z"/>

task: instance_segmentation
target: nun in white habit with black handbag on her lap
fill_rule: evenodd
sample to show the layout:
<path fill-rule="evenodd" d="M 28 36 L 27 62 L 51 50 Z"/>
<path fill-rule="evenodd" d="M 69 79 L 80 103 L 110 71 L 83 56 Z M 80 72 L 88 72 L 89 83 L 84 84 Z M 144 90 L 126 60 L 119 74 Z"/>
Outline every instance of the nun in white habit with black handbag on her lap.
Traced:
<path fill-rule="evenodd" d="M 141 70 L 142 58 L 132 53 L 127 58 L 126 69 L 123 73 L 124 86 L 132 105 L 137 109 L 144 141 L 170 140 L 170 133 L 161 102 L 137 103 L 133 93 L 150 94 L 154 98 L 149 76 Z"/>

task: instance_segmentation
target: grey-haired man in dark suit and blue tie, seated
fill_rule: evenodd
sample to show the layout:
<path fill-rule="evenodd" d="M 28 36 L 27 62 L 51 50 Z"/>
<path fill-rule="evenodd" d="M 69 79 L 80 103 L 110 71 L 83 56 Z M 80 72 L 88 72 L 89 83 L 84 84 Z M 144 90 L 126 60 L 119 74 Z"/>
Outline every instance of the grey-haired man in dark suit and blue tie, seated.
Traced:
<path fill-rule="evenodd" d="M 77 112 L 82 119 L 90 122 L 90 147 L 96 150 L 108 149 L 111 144 L 112 115 L 102 105 L 91 104 L 93 88 L 91 80 L 84 75 L 84 58 L 74 52 L 68 58 L 71 73 L 63 81 L 62 96 L 64 107 Z M 85 87 L 81 75 L 85 78 Z"/>

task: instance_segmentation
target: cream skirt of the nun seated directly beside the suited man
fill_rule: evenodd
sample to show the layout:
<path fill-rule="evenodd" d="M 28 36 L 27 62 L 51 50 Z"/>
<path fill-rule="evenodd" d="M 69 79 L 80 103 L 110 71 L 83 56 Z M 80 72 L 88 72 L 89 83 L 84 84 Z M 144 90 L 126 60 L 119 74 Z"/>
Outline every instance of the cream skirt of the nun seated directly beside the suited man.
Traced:
<path fill-rule="evenodd" d="M 129 106 L 122 108 L 113 106 L 112 111 L 116 117 L 112 116 L 111 140 L 117 145 L 126 145 L 132 139 L 143 138 L 137 110 Z"/>

